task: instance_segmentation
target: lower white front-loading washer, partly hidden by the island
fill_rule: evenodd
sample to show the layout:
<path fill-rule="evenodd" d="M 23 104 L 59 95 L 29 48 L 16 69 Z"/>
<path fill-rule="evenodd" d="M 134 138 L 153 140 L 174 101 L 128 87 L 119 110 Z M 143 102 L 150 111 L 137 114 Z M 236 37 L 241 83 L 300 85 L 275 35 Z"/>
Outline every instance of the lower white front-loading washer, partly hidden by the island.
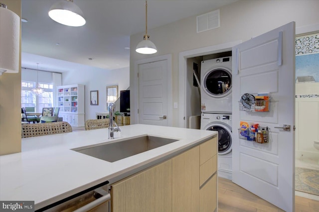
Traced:
<path fill-rule="evenodd" d="M 218 176 L 232 179 L 231 114 L 202 113 L 201 130 L 218 131 Z"/>

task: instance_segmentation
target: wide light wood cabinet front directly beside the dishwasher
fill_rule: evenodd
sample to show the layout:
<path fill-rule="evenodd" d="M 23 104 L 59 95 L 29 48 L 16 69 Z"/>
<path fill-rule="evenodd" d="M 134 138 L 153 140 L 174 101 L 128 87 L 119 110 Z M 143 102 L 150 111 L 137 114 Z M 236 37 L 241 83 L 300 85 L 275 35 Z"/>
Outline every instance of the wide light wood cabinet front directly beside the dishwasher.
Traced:
<path fill-rule="evenodd" d="M 171 160 L 112 185 L 111 212 L 171 212 Z"/>

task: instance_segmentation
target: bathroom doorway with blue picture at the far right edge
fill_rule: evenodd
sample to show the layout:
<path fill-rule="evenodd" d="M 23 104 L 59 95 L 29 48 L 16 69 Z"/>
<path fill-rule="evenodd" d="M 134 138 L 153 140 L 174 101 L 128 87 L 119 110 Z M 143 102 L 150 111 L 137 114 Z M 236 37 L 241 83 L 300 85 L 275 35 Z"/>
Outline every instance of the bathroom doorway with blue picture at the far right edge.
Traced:
<path fill-rule="evenodd" d="M 296 36 L 296 195 L 319 200 L 319 32 Z"/>

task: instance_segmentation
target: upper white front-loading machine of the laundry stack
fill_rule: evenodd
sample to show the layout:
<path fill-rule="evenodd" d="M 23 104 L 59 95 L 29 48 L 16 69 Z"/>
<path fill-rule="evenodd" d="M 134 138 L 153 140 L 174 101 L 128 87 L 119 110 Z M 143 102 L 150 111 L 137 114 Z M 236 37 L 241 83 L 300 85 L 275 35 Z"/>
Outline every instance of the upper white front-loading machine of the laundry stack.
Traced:
<path fill-rule="evenodd" d="M 200 95 L 202 113 L 232 112 L 231 57 L 201 62 Z"/>

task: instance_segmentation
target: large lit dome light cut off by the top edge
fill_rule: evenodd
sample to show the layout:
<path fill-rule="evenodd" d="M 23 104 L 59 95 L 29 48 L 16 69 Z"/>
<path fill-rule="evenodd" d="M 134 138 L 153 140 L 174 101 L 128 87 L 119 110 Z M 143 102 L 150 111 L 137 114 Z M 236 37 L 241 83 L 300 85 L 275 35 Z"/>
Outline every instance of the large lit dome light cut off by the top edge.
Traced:
<path fill-rule="evenodd" d="M 83 12 L 73 0 L 59 0 L 54 3 L 48 12 L 50 18 L 67 26 L 83 26 L 86 21 Z"/>

